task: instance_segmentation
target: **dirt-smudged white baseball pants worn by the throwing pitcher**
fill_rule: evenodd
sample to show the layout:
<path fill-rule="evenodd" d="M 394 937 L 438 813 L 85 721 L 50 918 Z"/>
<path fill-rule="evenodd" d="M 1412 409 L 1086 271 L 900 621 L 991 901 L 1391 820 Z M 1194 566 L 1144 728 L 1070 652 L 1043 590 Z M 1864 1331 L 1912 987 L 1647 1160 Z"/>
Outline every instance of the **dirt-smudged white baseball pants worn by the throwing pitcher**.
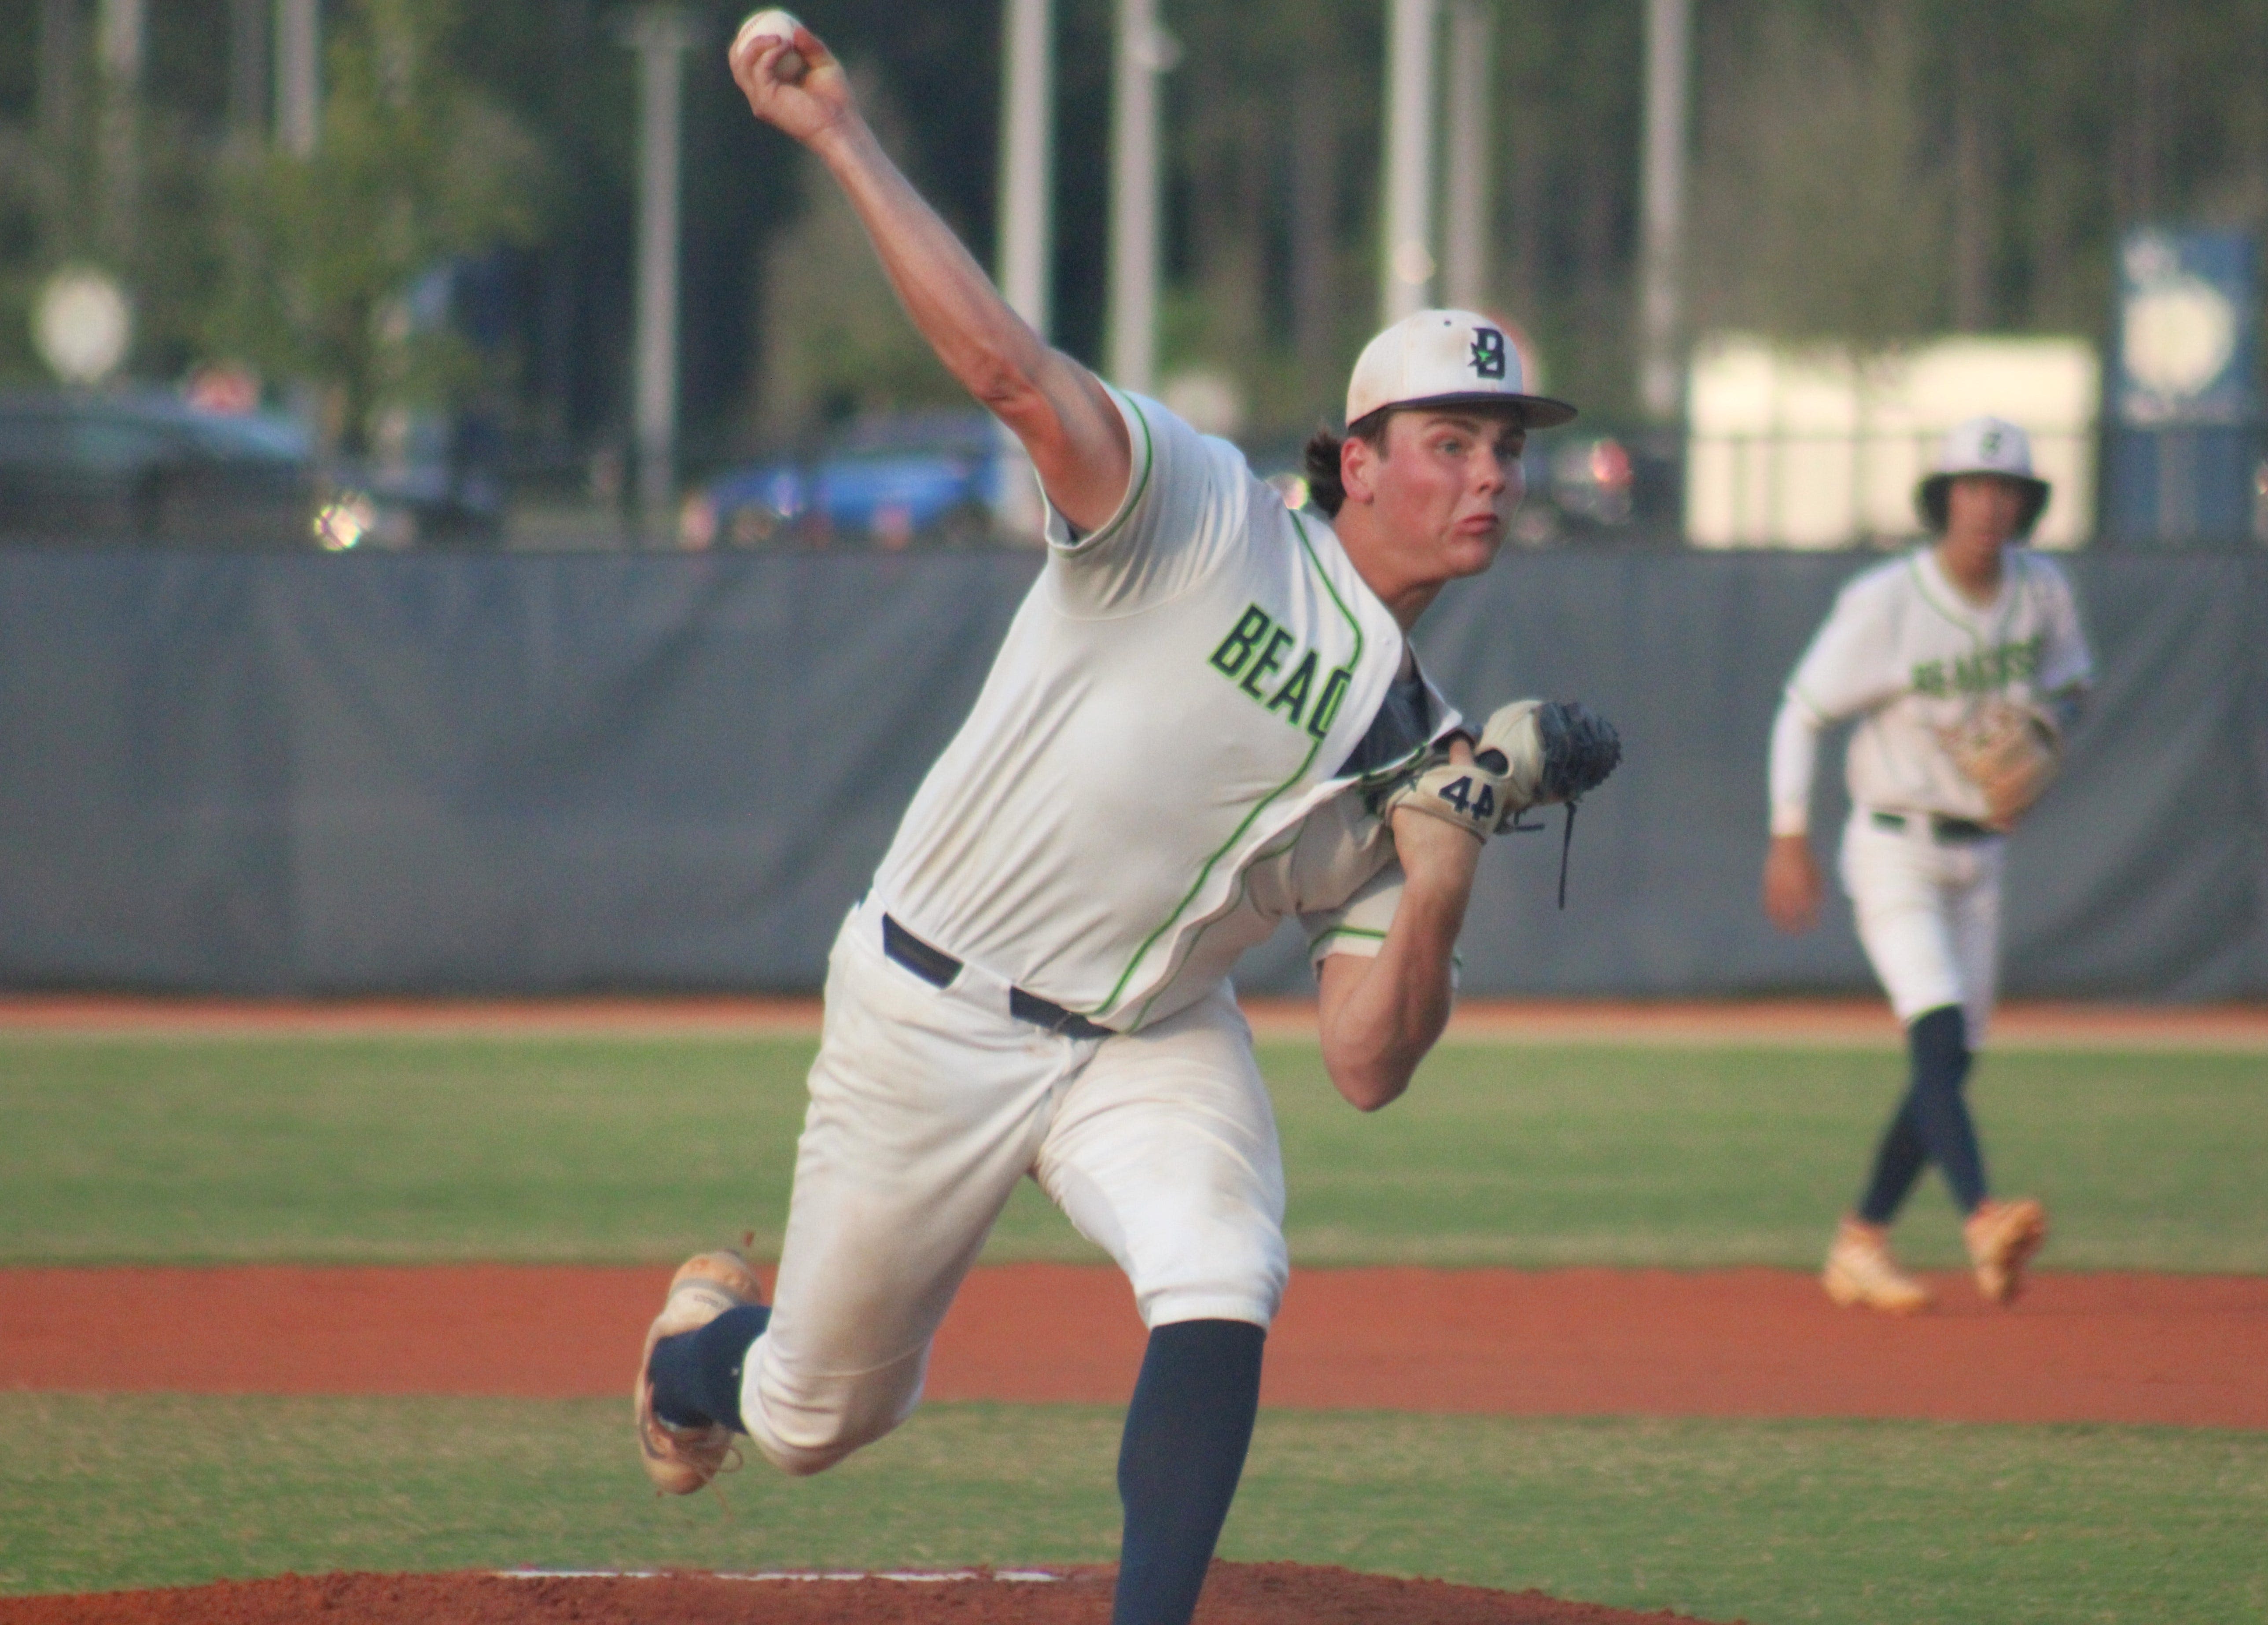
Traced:
<path fill-rule="evenodd" d="M 1032 1176 L 1127 1273 L 1145 1325 L 1268 1325 L 1284 1296 L 1284 1164 L 1227 987 L 1154 1028 L 1057 1037 L 964 965 L 932 987 L 844 921 L 771 1323 L 742 1421 L 816 1473 L 912 1416 L 962 1275 Z"/>

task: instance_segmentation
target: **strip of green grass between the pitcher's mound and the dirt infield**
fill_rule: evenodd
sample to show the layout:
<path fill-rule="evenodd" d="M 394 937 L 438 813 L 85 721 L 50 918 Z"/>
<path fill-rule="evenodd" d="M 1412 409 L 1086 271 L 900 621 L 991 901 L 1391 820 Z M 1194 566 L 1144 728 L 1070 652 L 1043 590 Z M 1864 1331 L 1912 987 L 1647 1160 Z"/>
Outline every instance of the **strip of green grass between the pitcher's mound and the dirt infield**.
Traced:
<path fill-rule="evenodd" d="M 658 1500 L 612 1403 L 0 1398 L 0 1589 L 281 1568 L 1109 1561 L 1118 1414 L 934 1405 L 816 1480 Z M 2268 1437 L 1261 1418 L 1222 1557 L 1703 1618 L 2254 1620 Z"/>

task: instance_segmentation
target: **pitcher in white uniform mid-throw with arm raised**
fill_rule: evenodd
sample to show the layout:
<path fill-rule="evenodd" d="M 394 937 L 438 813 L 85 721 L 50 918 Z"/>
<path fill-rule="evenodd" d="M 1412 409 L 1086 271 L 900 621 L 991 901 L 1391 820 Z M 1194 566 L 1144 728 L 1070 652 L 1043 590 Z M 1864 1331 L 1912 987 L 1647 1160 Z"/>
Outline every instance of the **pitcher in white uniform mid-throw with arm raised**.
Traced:
<path fill-rule="evenodd" d="M 1517 701 L 1474 735 L 1406 635 L 1495 561 L 1529 427 L 1574 409 L 1522 393 L 1486 318 L 1420 313 L 1356 363 L 1347 436 L 1309 447 L 1336 522 L 1293 513 L 1234 445 L 1107 388 L 1009 311 L 810 30 L 751 18 L 730 66 L 1023 440 L 1048 552 L 835 942 L 776 1298 L 737 1253 L 678 1271 L 635 1382 L 644 1464 L 689 1493 L 742 1434 L 816 1473 L 903 1423 L 1030 1176 L 1150 1328 L 1114 1618 L 1184 1625 L 1286 1278 L 1275 1119 L 1229 971 L 1297 917 L 1331 1080 L 1386 1105 L 1449 1017 L 1483 842 L 1615 765 L 1579 706 Z"/>

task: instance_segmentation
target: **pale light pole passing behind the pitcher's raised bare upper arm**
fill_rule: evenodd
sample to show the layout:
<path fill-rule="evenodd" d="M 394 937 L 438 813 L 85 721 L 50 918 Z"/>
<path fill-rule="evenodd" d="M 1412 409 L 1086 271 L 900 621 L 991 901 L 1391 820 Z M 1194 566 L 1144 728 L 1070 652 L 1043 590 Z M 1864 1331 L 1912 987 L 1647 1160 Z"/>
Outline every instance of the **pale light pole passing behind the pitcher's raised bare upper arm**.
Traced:
<path fill-rule="evenodd" d="M 993 277 L 1032 331 L 1048 338 L 1055 261 L 1055 0 L 1007 0 L 1000 9 L 1000 202 Z M 993 424 L 1000 472 L 993 522 L 1016 542 L 1036 542 L 1039 481 L 1023 443 Z"/>

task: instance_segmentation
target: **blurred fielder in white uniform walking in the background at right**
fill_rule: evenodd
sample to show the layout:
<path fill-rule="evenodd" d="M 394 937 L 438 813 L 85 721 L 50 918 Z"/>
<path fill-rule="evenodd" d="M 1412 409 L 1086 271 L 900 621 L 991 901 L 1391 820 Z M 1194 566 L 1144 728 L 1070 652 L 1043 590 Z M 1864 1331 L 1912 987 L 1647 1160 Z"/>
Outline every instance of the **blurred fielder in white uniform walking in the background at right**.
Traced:
<path fill-rule="evenodd" d="M 2048 506 L 2023 429 L 2000 418 L 1953 429 L 1916 502 L 1937 542 L 1851 581 L 1787 681 L 1765 858 L 1765 912 L 1810 931 L 1819 731 L 1857 717 L 1842 883 L 1905 1024 L 1912 1078 L 1821 1280 L 1839 1305 L 1894 1314 L 1930 1303 L 1889 1251 L 1889 1223 L 1926 1164 L 1960 1203 L 1984 1298 L 2014 1300 L 2048 1237 L 2037 1201 L 1989 1194 L 1962 1085 L 1991 1019 L 2005 835 L 2055 778 L 2091 681 L 2071 583 L 2016 547 Z"/>

